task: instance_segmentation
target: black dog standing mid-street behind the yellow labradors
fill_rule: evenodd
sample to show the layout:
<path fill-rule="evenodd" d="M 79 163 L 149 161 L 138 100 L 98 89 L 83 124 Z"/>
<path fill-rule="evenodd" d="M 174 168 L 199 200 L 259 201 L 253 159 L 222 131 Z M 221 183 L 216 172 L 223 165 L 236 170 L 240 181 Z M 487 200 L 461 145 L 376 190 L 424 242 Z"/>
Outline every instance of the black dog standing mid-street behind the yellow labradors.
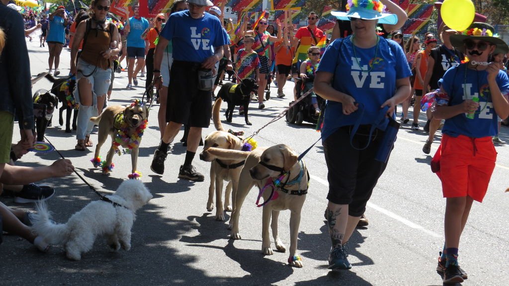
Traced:
<path fill-rule="evenodd" d="M 251 125 L 247 118 L 247 110 L 249 108 L 249 101 L 251 92 L 258 91 L 258 84 L 256 79 L 245 78 L 239 84 L 233 82 L 224 83 L 217 94 L 216 103 L 220 99 L 228 103 L 226 110 L 226 120 L 232 122 L 233 110 L 235 106 L 244 107 L 244 119 L 247 125 Z M 215 103 L 214 103 L 215 104 Z"/>

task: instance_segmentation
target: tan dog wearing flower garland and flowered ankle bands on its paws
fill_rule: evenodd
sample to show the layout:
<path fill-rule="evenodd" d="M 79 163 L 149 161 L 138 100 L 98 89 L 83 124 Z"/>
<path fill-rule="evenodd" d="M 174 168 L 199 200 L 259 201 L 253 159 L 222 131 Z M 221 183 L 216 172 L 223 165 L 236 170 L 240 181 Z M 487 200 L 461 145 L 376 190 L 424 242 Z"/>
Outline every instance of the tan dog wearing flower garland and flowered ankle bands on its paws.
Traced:
<path fill-rule="evenodd" d="M 94 160 L 92 162 L 94 166 L 99 166 L 98 158 L 101 147 L 108 135 L 111 137 L 111 147 L 102 168 L 102 173 L 104 175 L 107 175 L 111 170 L 110 166 L 113 156 L 115 153 L 120 152 L 119 146 L 130 151 L 132 163 L 131 175 L 136 173 L 138 148 L 142 140 L 143 132 L 147 127 L 148 116 L 149 111 L 147 106 L 144 105 L 143 102 L 136 100 L 127 107 L 121 105 L 108 106 L 103 110 L 100 116 L 90 118 L 90 121 L 99 125 L 98 141 Z"/>

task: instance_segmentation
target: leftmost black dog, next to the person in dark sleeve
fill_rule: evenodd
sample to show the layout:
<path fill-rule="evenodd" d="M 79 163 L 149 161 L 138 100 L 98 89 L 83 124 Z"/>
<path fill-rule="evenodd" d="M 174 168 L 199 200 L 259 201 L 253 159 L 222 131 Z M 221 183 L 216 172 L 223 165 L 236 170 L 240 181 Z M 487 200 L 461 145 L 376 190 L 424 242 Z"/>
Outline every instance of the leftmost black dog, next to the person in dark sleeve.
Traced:
<path fill-rule="evenodd" d="M 38 90 L 34 97 L 34 117 L 37 130 L 37 141 L 44 141 L 46 127 L 51 121 L 53 111 L 59 104 L 58 98 L 46 90 Z M 42 107 L 42 108 L 38 108 Z"/>

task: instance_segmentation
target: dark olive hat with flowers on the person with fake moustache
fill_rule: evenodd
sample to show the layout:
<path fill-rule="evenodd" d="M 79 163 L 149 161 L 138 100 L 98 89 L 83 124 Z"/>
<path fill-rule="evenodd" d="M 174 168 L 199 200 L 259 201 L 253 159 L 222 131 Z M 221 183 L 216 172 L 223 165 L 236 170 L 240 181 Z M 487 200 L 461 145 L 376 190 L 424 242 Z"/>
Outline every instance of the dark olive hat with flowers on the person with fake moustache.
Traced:
<path fill-rule="evenodd" d="M 464 41 L 466 39 L 481 40 L 496 46 L 495 51 L 493 52 L 494 54 L 507 53 L 509 51 L 509 47 L 502 39 L 493 33 L 494 30 L 495 28 L 493 28 L 490 24 L 473 22 L 467 30 L 461 33 L 461 35 L 451 35 L 450 43 L 461 52 L 465 52 Z"/>

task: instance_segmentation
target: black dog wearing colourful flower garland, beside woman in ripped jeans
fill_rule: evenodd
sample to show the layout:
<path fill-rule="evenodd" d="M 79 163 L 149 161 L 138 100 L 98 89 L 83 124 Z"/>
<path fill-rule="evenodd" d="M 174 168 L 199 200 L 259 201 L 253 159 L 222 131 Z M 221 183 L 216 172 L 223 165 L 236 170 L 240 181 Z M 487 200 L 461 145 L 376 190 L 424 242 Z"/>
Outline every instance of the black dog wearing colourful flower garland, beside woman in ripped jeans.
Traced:
<path fill-rule="evenodd" d="M 53 83 L 50 92 L 55 94 L 56 97 L 62 102 L 62 106 L 60 107 L 59 114 L 59 124 L 60 126 L 64 125 L 63 113 L 64 110 L 67 110 L 66 113 L 66 125 L 65 132 L 71 133 L 71 112 L 74 110 L 74 116 L 72 118 L 72 130 L 76 130 L 76 120 L 78 118 L 78 109 L 77 104 L 74 103 L 74 96 L 72 92 L 74 91 L 74 87 L 76 86 L 76 79 L 74 77 L 64 77 L 64 78 L 54 78 L 51 74 L 47 74 L 45 76 L 49 81 Z M 68 88 L 67 88 L 68 87 Z M 70 100 L 69 100 L 70 99 Z M 72 105 L 75 106 L 72 106 Z"/>

